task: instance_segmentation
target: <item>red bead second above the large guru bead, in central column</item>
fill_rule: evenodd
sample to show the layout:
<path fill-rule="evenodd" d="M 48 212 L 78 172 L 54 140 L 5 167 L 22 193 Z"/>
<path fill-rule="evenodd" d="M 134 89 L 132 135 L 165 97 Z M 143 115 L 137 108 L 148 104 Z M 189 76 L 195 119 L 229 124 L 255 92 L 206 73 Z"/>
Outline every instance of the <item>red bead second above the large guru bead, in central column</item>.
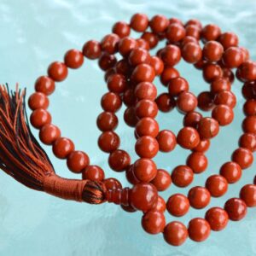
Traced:
<path fill-rule="evenodd" d="M 137 139 L 135 151 L 140 157 L 153 158 L 159 150 L 159 145 L 154 137 L 143 136 Z"/>

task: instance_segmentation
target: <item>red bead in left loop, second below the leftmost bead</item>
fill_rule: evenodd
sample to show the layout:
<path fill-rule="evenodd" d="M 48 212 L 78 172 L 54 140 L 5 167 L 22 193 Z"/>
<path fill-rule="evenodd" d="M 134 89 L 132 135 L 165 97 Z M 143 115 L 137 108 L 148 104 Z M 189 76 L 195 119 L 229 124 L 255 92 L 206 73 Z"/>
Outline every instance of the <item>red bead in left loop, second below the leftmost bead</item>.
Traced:
<path fill-rule="evenodd" d="M 39 137 L 42 143 L 51 145 L 56 139 L 61 137 L 61 131 L 55 125 L 46 124 L 40 129 Z"/>

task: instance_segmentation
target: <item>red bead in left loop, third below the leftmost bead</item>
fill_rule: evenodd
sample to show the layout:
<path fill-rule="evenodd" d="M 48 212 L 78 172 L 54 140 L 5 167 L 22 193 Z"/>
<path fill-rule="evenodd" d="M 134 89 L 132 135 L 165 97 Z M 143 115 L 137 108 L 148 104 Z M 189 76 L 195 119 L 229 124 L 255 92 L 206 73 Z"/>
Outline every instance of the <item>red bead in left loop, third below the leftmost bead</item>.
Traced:
<path fill-rule="evenodd" d="M 60 137 L 53 143 L 52 150 L 57 158 L 65 159 L 68 154 L 73 152 L 74 144 L 67 137 Z"/>

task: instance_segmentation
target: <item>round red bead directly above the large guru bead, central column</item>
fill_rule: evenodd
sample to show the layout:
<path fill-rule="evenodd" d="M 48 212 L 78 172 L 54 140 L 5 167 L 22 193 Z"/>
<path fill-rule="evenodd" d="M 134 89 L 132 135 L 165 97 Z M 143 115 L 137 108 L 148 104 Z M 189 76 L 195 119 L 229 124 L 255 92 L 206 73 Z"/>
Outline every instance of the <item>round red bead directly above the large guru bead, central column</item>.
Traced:
<path fill-rule="evenodd" d="M 133 173 L 140 182 L 148 183 L 156 176 L 157 169 L 153 160 L 141 158 L 134 163 Z"/>

